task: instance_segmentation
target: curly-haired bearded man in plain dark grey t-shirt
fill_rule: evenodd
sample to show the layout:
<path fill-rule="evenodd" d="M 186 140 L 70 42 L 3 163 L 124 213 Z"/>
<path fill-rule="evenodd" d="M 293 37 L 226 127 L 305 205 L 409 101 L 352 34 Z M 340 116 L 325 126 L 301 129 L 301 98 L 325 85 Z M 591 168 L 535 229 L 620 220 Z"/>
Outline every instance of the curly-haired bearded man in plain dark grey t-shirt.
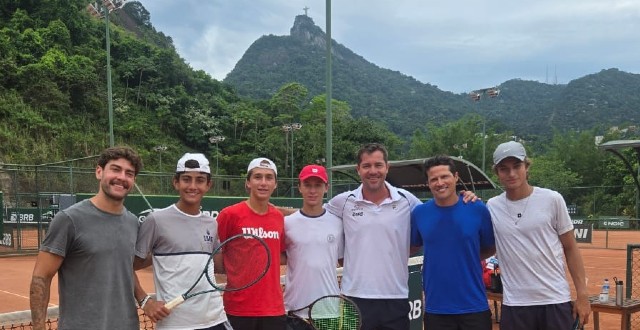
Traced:
<path fill-rule="evenodd" d="M 58 329 L 139 329 L 131 269 L 138 221 L 123 205 L 142 168 L 127 147 L 98 159 L 98 193 L 51 221 L 33 270 L 33 329 L 44 329 L 51 280 L 58 274 Z"/>

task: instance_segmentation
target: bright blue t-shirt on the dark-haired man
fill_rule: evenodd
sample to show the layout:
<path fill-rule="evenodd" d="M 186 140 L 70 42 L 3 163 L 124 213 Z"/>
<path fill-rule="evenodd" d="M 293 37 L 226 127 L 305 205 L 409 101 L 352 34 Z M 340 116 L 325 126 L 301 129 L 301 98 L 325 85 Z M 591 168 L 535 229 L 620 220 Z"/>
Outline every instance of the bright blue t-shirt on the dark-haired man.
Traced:
<path fill-rule="evenodd" d="M 489 209 L 481 201 L 440 207 L 434 200 L 411 212 L 411 245 L 424 246 L 425 311 L 465 314 L 489 309 L 480 250 L 495 246 Z"/>

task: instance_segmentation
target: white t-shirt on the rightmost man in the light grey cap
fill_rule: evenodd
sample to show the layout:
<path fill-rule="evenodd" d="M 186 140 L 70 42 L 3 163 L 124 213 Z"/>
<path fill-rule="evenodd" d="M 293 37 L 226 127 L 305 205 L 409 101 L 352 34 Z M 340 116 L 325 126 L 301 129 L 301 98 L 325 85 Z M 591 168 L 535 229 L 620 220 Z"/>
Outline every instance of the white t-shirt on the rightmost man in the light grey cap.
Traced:
<path fill-rule="evenodd" d="M 487 206 L 500 260 L 503 303 L 533 306 L 570 301 L 560 235 L 572 230 L 573 223 L 562 196 L 534 187 L 527 198 L 510 201 L 502 193 Z"/>

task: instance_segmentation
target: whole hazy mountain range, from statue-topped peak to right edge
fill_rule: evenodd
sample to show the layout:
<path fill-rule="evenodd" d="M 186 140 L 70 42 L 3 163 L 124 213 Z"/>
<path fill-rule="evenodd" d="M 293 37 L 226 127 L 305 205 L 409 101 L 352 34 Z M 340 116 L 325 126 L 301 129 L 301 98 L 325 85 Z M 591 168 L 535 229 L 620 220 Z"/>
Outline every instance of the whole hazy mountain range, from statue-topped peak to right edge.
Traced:
<path fill-rule="evenodd" d="M 237 93 L 270 98 L 282 85 L 299 82 L 310 95 L 325 92 L 326 35 L 305 15 L 296 16 L 288 36 L 256 40 L 224 79 Z M 518 135 L 548 135 L 553 129 L 640 124 L 640 75 L 603 70 L 567 85 L 513 79 L 499 86 L 497 98 L 473 102 L 415 78 L 380 68 L 332 40 L 333 97 L 348 102 L 356 117 L 385 123 L 409 136 L 427 123 L 482 115 L 495 129 Z M 489 86 L 487 86 L 489 87 Z M 486 96 L 486 95 L 484 95 Z"/>

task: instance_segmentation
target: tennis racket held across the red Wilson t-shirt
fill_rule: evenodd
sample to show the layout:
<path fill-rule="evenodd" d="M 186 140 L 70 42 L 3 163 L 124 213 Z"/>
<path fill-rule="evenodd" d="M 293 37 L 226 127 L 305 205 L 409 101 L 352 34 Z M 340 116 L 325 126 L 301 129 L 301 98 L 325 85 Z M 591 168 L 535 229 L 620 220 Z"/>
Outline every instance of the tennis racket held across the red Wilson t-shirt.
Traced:
<path fill-rule="evenodd" d="M 213 250 L 207 265 L 189 290 L 164 306 L 173 309 L 185 300 L 201 294 L 246 289 L 267 273 L 270 264 L 269 247 L 261 238 L 252 234 L 232 236 Z M 203 277 L 209 283 L 207 289 L 191 292 Z"/>

